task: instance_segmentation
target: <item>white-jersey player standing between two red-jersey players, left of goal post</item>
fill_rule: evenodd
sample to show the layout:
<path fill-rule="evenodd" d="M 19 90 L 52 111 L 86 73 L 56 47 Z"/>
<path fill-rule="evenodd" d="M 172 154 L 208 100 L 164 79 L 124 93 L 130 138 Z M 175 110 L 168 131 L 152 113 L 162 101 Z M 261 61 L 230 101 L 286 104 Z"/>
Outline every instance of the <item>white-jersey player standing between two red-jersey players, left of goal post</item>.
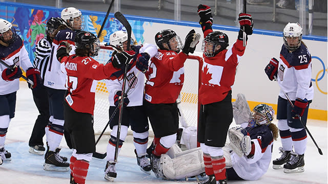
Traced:
<path fill-rule="evenodd" d="M 127 48 L 127 43 L 130 42 L 131 51 Z M 157 47 L 153 44 L 146 43 L 145 45 L 135 45 L 133 39 L 128 40 L 128 34 L 124 31 L 116 31 L 110 35 L 110 44 L 118 49 L 118 52 L 125 51 L 130 55 L 135 55 L 135 59 L 142 61 L 139 65 L 129 66 L 127 72 L 127 83 L 126 89 L 130 87 L 127 98 L 124 98 L 124 116 L 122 117 L 120 137 L 119 137 L 119 148 L 124 143 L 128 127 L 131 126 L 133 131 L 133 144 L 135 146 L 135 154 L 137 157 L 137 164 L 140 166 L 140 170 L 144 171 L 147 174 L 150 174 L 151 166 L 148 158 L 146 157 L 146 149 L 148 143 L 148 119 L 145 113 L 144 106 L 142 106 L 142 101 L 144 97 L 144 83 L 145 83 L 145 74 L 140 71 L 147 71 L 148 61 L 150 58 L 155 56 L 157 53 Z M 116 77 L 121 76 L 123 71 L 114 73 Z M 121 78 L 113 77 L 113 79 L 106 80 L 106 86 L 109 90 L 109 116 L 112 116 L 115 109 L 118 108 L 119 97 L 122 93 L 122 82 Z M 105 179 L 113 181 L 116 178 L 115 164 L 114 163 L 114 154 L 115 146 L 117 142 L 117 125 L 118 125 L 118 114 L 116 113 L 114 119 L 110 122 L 110 128 L 112 129 L 111 138 L 107 146 L 107 165 L 105 169 Z"/>

